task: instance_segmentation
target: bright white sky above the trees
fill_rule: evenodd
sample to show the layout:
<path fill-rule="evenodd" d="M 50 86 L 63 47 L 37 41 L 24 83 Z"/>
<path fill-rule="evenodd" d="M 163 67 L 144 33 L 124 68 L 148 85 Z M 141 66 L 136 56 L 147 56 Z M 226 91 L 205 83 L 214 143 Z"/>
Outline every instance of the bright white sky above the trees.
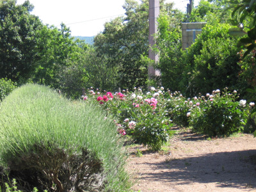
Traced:
<path fill-rule="evenodd" d="M 25 0 L 17 0 L 17 4 Z M 136 0 L 140 2 L 139 0 Z M 195 0 L 195 6 L 199 0 Z M 125 0 L 29 0 L 35 6 L 31 14 L 44 24 L 60 28 L 63 22 L 70 28 L 72 36 L 95 36 L 104 30 L 104 23 L 124 15 Z M 175 8 L 186 12 L 189 0 L 167 0 Z"/>

